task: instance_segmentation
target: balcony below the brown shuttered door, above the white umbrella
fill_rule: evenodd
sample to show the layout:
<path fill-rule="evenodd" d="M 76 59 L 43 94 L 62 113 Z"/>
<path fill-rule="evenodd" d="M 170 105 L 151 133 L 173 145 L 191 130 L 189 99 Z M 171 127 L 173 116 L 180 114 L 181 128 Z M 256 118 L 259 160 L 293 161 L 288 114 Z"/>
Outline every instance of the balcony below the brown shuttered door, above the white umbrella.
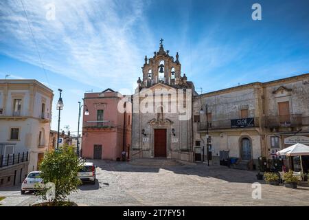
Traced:
<path fill-rule="evenodd" d="M 301 114 L 272 115 L 266 116 L 264 123 L 266 127 L 301 126 L 308 124 L 308 117 L 302 117 Z"/>

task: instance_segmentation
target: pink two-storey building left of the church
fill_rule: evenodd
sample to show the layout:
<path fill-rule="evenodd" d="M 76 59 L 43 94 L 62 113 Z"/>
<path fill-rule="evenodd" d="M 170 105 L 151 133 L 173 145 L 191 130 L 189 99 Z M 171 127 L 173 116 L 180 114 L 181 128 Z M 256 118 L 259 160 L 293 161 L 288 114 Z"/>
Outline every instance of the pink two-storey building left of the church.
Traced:
<path fill-rule="evenodd" d="M 130 100 L 113 89 L 84 94 L 83 112 L 88 109 L 89 115 L 83 114 L 82 157 L 116 160 L 122 151 L 130 155 Z"/>

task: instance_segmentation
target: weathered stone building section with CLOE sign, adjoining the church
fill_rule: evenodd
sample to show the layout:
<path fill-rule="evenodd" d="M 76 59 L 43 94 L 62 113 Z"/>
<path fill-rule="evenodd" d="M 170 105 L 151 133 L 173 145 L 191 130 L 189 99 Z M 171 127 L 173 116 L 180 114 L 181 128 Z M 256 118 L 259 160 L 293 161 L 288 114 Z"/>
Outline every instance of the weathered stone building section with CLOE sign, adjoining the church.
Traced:
<path fill-rule="evenodd" d="M 194 152 L 201 153 L 202 161 L 207 159 L 207 128 L 214 164 L 222 151 L 246 162 L 262 155 L 261 91 L 260 83 L 251 83 L 194 97 Z M 206 107 L 207 113 L 201 114 Z"/>

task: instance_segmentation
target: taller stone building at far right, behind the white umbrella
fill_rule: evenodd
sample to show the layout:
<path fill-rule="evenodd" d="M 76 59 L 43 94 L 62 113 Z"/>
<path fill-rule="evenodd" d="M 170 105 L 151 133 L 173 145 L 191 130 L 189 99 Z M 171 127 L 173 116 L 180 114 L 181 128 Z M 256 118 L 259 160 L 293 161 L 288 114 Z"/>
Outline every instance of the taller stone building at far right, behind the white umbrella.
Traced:
<path fill-rule="evenodd" d="M 266 157 L 277 159 L 277 151 L 297 142 L 309 145 L 309 74 L 263 83 L 262 99 Z M 299 157 L 279 159 L 288 168 L 301 170 Z M 307 171 L 309 157 L 302 160 Z"/>

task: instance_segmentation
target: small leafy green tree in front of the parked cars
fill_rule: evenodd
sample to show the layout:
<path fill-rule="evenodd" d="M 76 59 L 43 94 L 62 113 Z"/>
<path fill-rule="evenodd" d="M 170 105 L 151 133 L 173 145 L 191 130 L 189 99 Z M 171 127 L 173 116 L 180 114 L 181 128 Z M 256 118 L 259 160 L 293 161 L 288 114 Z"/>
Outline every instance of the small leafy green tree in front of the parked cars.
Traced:
<path fill-rule="evenodd" d="M 76 191 L 81 184 L 78 178 L 78 171 L 82 168 L 82 159 L 79 159 L 73 151 L 72 146 L 64 146 L 59 150 L 45 153 L 40 164 L 43 179 L 43 190 L 36 192 L 41 199 L 49 200 L 49 205 L 58 205 L 59 201 L 65 199 L 71 192 Z M 50 184 L 54 185 L 51 189 Z M 47 195 L 49 190 L 54 190 L 52 199 Z"/>

